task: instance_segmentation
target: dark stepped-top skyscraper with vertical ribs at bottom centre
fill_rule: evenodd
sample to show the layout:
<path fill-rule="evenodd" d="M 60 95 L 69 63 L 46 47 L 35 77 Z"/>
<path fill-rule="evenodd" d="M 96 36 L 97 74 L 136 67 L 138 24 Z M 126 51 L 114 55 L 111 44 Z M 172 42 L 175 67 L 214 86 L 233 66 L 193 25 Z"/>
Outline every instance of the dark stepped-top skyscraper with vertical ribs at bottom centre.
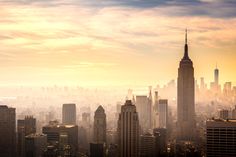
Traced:
<path fill-rule="evenodd" d="M 139 146 L 139 118 L 136 106 L 126 100 L 118 120 L 119 157 L 137 157 Z"/>

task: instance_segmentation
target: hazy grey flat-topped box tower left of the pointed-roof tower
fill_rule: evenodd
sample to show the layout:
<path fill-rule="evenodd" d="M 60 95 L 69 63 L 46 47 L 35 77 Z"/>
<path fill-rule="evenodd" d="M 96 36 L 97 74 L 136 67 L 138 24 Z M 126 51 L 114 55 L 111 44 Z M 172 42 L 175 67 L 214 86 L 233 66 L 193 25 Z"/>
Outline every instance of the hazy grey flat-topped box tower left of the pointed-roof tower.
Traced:
<path fill-rule="evenodd" d="M 75 104 L 63 104 L 62 123 L 64 125 L 76 124 L 76 106 Z"/>

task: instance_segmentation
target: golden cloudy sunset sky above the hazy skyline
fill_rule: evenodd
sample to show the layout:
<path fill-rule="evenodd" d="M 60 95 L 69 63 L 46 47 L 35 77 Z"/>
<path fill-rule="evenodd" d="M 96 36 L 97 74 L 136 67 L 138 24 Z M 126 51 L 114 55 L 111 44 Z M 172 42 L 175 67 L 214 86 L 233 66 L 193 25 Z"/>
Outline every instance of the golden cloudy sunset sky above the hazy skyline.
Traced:
<path fill-rule="evenodd" d="M 0 85 L 236 84 L 234 0 L 0 0 Z"/>

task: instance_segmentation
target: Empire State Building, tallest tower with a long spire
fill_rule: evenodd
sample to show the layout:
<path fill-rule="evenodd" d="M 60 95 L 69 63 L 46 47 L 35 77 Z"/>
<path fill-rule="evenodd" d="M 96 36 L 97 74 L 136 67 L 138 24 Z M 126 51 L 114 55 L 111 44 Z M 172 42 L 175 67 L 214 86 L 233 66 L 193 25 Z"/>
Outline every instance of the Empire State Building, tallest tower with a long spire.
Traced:
<path fill-rule="evenodd" d="M 187 30 L 184 56 L 179 63 L 177 88 L 177 139 L 194 141 L 196 132 L 194 68 L 193 62 L 188 56 Z"/>

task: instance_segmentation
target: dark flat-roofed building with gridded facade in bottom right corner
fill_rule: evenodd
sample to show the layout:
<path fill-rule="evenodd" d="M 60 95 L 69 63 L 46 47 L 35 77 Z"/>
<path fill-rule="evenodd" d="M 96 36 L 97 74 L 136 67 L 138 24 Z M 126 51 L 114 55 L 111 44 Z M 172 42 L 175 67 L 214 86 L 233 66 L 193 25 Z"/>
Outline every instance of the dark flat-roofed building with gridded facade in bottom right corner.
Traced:
<path fill-rule="evenodd" d="M 206 144 L 207 157 L 235 157 L 236 120 L 208 120 Z"/>

